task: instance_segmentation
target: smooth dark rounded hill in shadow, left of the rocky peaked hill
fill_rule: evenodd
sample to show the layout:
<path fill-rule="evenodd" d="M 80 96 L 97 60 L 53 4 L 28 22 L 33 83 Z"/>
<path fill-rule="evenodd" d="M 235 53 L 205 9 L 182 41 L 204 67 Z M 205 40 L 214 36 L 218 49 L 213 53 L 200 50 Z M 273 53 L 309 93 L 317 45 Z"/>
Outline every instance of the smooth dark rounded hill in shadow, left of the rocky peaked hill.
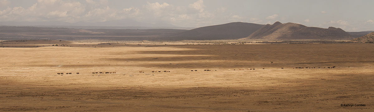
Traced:
<path fill-rule="evenodd" d="M 186 40 L 239 39 L 251 35 L 263 26 L 264 25 L 245 22 L 232 22 L 195 28 L 170 37 L 183 38 Z"/>

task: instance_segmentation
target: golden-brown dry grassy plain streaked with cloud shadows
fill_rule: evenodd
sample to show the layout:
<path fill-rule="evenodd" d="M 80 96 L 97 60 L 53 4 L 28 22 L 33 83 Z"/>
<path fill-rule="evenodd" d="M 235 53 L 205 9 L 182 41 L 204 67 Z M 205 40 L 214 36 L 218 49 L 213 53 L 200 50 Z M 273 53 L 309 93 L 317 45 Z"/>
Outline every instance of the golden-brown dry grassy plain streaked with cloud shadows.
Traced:
<path fill-rule="evenodd" d="M 373 48 L 374 44 L 0 48 L 0 111 L 373 112 Z M 337 68 L 324 68 L 331 66 Z M 56 74 L 60 72 L 73 74 Z"/>

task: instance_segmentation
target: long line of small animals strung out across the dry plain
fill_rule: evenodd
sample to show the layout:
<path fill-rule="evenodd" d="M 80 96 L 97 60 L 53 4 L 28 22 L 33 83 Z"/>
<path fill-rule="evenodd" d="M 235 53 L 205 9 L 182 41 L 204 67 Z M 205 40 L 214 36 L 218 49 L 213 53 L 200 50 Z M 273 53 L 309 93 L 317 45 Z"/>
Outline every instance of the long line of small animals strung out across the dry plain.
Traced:
<path fill-rule="evenodd" d="M 316 67 L 295 67 L 295 68 L 292 68 L 292 69 L 312 69 L 312 68 L 316 68 Z M 318 68 L 321 68 L 321 67 L 318 67 Z M 332 67 L 324 67 L 324 68 L 336 68 L 336 66 L 332 66 Z M 340 68 L 340 67 L 338 67 Z M 348 66 L 349 68 L 349 66 Z M 262 68 L 262 69 L 265 69 L 265 68 Z M 281 69 L 284 69 L 284 68 L 281 68 Z M 229 71 L 231 69 L 228 69 Z M 234 71 L 236 69 L 233 69 Z M 239 69 L 239 70 L 245 70 L 245 69 Z M 247 70 L 255 70 L 255 68 L 248 68 Z M 190 70 L 191 72 L 197 72 L 197 70 Z M 204 71 L 212 71 L 212 70 L 209 70 L 209 69 L 204 69 Z M 217 70 L 214 70 L 214 71 L 217 71 Z M 152 73 L 154 72 L 162 72 L 162 71 L 151 71 Z M 170 72 L 170 71 L 163 71 L 163 72 Z M 139 73 L 144 73 L 144 71 L 139 71 Z M 61 75 L 63 76 L 64 73 L 57 73 L 58 75 Z M 71 74 L 71 73 L 65 73 L 65 74 Z M 76 74 L 79 74 L 79 72 L 77 72 Z M 95 76 L 95 74 L 98 74 L 98 76 L 100 76 L 100 74 L 116 74 L 116 72 L 92 72 L 92 76 Z M 123 74 L 123 75 L 126 75 L 126 74 Z M 145 74 L 145 75 L 150 75 L 150 74 Z M 152 74 L 154 75 L 154 74 Z M 56 75 L 55 75 L 56 76 Z M 130 77 L 134 76 L 134 75 L 129 75 Z"/>

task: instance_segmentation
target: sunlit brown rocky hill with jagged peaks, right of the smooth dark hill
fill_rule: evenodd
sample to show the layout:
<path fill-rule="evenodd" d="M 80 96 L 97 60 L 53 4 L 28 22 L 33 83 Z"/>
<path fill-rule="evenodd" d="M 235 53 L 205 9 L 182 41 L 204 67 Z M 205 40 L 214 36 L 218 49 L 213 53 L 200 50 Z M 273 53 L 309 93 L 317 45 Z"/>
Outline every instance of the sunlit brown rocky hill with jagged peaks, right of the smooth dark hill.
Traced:
<path fill-rule="evenodd" d="M 273 25 L 267 24 L 251 35 L 242 39 L 272 39 L 272 40 L 298 40 L 298 39 L 347 39 L 350 35 L 343 29 L 329 27 L 317 28 L 306 27 L 301 24 L 275 22 Z"/>

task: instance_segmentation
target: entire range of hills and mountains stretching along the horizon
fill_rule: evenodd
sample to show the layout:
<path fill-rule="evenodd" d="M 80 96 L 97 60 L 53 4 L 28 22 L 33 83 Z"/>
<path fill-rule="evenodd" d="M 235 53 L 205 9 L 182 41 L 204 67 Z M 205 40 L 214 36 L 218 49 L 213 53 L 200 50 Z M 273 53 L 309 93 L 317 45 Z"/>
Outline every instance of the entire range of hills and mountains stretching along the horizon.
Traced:
<path fill-rule="evenodd" d="M 7 23 L 7 25 L 11 24 L 10 22 L 3 23 Z M 68 26 L 71 24 L 65 22 L 15 22 L 12 25 L 41 25 L 41 27 L 0 26 L 0 40 L 342 40 L 362 37 L 371 32 L 345 32 L 343 29 L 334 27 L 317 28 L 295 23 L 282 24 L 281 22 L 275 22 L 272 25 L 232 22 L 190 30 L 178 29 L 180 27 L 174 27 L 173 25 L 165 25 L 168 27 L 152 27 L 161 26 L 162 24 L 146 24 L 127 20 L 97 23 L 77 22 L 74 24 L 80 26 Z M 47 25 L 52 26 L 48 27 Z M 54 25 L 63 27 L 56 28 Z M 107 25 L 112 26 L 106 27 Z M 121 27 L 126 25 L 143 25 L 148 27 Z"/>

